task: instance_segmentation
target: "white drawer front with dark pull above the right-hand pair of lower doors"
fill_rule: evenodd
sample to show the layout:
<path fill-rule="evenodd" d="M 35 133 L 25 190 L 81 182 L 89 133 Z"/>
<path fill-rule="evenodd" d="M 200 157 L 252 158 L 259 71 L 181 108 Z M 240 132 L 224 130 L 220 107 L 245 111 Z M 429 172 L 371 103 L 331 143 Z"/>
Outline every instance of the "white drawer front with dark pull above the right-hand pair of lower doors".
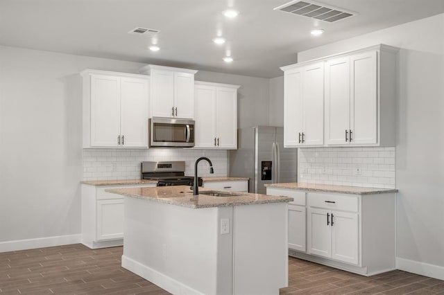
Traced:
<path fill-rule="evenodd" d="M 311 207 L 357 212 L 359 210 L 359 196 L 308 193 L 308 204 Z"/>

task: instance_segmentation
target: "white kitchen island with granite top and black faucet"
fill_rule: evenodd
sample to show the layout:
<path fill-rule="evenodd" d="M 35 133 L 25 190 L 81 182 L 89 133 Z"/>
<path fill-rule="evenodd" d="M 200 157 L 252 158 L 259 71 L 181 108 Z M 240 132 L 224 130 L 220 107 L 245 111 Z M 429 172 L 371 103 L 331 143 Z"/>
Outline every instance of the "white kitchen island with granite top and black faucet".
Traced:
<path fill-rule="evenodd" d="M 125 196 L 122 267 L 173 294 L 279 294 L 292 198 L 199 190 L 107 190 Z"/>

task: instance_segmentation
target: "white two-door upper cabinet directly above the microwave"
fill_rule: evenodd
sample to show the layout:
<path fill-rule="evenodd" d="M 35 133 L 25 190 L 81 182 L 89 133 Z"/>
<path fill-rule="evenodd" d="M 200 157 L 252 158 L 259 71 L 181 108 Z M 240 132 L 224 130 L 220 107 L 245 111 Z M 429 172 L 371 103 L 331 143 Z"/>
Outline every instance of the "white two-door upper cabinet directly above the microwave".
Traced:
<path fill-rule="evenodd" d="M 153 64 L 139 71 L 151 76 L 151 117 L 194 118 L 194 74 L 197 71 Z"/>

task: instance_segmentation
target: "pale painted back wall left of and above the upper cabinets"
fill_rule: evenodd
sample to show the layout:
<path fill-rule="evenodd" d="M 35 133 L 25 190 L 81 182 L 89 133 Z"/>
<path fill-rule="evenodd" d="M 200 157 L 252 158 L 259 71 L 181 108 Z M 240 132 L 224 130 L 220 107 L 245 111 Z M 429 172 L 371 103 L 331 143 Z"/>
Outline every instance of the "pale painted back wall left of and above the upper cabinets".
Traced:
<path fill-rule="evenodd" d="M 80 233 L 78 73 L 137 73 L 142 66 L 0 46 L 0 251 L 1 242 Z M 268 79 L 212 72 L 197 78 L 241 85 L 240 127 L 268 123 Z"/>

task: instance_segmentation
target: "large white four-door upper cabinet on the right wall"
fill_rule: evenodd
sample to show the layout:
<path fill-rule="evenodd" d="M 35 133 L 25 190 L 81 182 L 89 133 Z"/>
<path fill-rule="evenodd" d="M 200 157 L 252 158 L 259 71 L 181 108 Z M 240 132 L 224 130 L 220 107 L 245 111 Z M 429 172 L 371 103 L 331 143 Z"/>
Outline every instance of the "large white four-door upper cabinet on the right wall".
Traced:
<path fill-rule="evenodd" d="M 394 146 L 396 51 L 380 44 L 282 68 L 285 146 Z"/>

